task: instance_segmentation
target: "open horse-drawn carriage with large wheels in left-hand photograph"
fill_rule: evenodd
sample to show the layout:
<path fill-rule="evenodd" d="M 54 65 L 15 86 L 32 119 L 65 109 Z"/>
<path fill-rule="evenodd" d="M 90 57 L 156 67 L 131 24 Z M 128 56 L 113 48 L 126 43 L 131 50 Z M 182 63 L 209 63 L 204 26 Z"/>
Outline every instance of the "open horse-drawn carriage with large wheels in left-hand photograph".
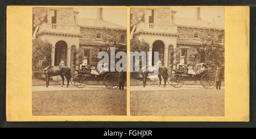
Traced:
<path fill-rule="evenodd" d="M 90 77 L 93 77 L 96 81 L 101 80 L 107 89 L 117 89 L 118 87 L 118 74 L 116 72 L 106 71 L 102 74 L 95 75 L 91 73 L 89 68 L 85 67 L 76 71 L 77 73 L 71 76 L 71 84 L 77 88 L 85 87 Z"/>

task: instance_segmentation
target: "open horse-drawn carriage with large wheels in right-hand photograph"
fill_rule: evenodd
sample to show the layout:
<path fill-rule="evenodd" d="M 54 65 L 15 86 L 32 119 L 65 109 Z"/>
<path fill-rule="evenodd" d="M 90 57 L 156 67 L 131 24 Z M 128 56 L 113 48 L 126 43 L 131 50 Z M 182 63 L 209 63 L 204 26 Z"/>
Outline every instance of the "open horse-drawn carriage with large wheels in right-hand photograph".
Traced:
<path fill-rule="evenodd" d="M 197 66 L 205 66 L 206 68 L 204 63 L 197 64 L 195 68 L 197 68 Z M 167 82 L 169 85 L 174 86 L 175 88 L 179 88 L 184 85 L 184 78 L 192 78 L 194 81 L 200 80 L 200 84 L 205 89 L 213 89 L 215 87 L 214 70 L 209 70 L 206 68 L 204 71 L 201 71 L 197 74 L 188 73 L 187 68 L 180 68 L 180 70 L 173 71 L 174 73 L 168 76 Z"/>

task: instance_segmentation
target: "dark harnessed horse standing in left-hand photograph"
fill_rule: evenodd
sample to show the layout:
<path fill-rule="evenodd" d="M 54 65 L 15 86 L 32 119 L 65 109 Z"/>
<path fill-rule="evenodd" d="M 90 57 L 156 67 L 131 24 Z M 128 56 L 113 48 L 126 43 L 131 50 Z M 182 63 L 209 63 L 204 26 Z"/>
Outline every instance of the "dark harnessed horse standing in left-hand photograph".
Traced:
<path fill-rule="evenodd" d="M 49 79 L 52 76 L 60 75 L 62 79 L 61 86 L 64 85 L 64 76 L 67 79 L 67 87 L 69 85 L 69 80 L 71 78 L 71 70 L 67 66 L 48 66 L 44 69 L 44 74 L 46 75 L 46 87 L 49 86 Z"/>

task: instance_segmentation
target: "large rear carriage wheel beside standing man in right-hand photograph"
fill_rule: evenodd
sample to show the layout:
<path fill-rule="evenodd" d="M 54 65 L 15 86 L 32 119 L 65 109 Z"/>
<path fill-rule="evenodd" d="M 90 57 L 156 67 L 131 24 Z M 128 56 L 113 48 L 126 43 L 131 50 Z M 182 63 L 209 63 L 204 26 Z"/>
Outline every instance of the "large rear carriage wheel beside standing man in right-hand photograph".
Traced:
<path fill-rule="evenodd" d="M 205 73 L 200 80 L 201 85 L 205 89 L 213 89 L 215 87 L 214 82 L 215 78 L 213 73 Z"/>

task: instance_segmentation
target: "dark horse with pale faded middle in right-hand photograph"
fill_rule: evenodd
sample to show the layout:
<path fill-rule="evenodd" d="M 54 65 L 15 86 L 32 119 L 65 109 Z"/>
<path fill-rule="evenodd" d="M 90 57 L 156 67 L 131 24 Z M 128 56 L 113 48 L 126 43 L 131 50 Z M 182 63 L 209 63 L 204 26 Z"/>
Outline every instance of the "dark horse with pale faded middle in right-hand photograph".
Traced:
<path fill-rule="evenodd" d="M 164 67 L 164 66 L 159 66 L 158 71 L 159 71 L 159 73 L 158 73 L 159 85 L 158 85 L 158 86 L 161 85 L 161 81 L 162 81 L 161 76 L 162 76 L 163 79 L 164 79 L 164 86 L 166 86 L 166 81 L 167 81 L 167 79 L 168 79 L 168 70 L 167 70 L 167 68 Z M 143 87 L 146 86 L 148 73 L 152 73 L 152 72 L 151 72 L 151 71 L 148 71 L 148 70 L 142 71 L 142 81 L 143 81 L 143 85 L 142 85 L 142 86 L 143 86 Z"/>

